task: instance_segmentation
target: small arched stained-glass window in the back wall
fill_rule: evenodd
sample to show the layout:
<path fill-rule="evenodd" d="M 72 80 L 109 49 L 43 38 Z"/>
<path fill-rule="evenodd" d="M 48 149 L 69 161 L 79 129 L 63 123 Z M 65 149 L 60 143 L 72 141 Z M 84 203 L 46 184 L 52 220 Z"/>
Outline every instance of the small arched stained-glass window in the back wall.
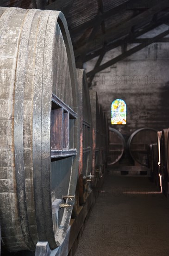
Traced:
<path fill-rule="evenodd" d="M 112 102 L 111 108 L 111 123 L 126 124 L 126 104 L 121 99 L 116 99 Z"/>

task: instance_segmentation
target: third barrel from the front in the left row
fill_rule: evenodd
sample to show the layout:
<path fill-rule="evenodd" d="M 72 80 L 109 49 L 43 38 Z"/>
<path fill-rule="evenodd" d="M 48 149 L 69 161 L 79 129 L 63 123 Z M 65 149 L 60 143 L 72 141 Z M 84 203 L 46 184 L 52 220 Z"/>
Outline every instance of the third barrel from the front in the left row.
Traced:
<path fill-rule="evenodd" d="M 94 90 L 89 90 L 90 104 L 92 111 L 92 137 L 93 137 L 93 154 L 92 154 L 92 175 L 94 179 L 92 186 L 96 186 L 100 173 L 100 110 L 97 93 Z"/>

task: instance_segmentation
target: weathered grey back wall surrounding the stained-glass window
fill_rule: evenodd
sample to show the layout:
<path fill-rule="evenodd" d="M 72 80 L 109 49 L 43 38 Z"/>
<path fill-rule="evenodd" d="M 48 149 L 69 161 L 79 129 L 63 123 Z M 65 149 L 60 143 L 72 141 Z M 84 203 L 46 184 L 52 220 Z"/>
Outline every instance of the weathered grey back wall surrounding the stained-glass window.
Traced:
<path fill-rule="evenodd" d="M 142 37 L 153 37 L 166 29 L 168 26 L 163 25 Z M 130 45 L 128 49 L 133 46 L 136 45 Z M 120 53 L 120 48 L 113 49 L 101 64 Z M 85 63 L 87 72 L 96 60 Z M 126 138 L 138 128 L 161 130 L 169 127 L 169 43 L 153 43 L 96 74 L 92 88 L 98 93 L 110 126 Z M 126 125 L 111 125 L 111 103 L 116 98 L 127 104 Z"/>

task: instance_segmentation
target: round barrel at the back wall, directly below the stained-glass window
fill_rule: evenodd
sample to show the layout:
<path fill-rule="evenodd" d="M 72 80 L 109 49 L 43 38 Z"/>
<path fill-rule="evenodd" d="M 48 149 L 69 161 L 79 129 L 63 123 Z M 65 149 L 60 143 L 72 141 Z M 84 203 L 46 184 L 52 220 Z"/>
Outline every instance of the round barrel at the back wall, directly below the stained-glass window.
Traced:
<path fill-rule="evenodd" d="M 125 139 L 116 129 L 109 127 L 109 157 L 108 165 L 118 162 L 125 153 Z"/>

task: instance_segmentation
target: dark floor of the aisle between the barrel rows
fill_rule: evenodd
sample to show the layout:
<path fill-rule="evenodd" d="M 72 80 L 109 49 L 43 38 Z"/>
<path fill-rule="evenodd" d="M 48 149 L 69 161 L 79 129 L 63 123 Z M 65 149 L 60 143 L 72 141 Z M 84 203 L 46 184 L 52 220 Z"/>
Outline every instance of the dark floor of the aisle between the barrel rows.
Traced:
<path fill-rule="evenodd" d="M 144 176 L 109 172 L 75 256 L 168 256 L 169 201 Z"/>

